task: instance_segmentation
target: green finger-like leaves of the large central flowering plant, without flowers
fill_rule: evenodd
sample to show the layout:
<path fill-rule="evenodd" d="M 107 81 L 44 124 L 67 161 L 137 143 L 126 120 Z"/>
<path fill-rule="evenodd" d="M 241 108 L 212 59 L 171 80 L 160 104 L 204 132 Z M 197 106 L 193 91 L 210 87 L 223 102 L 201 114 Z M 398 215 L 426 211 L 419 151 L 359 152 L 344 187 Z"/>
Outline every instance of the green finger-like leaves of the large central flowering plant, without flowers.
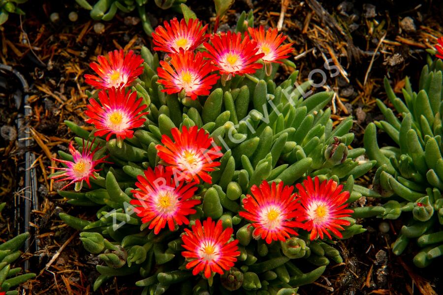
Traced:
<path fill-rule="evenodd" d="M 333 127 L 331 110 L 325 109 L 333 93 L 318 92 L 303 98 L 301 93 L 311 82 L 296 89 L 298 71 L 276 85 L 278 66 L 274 64 L 270 76 L 265 75 L 264 68 L 253 76 L 235 76 L 224 86 L 219 81 L 209 97 L 191 100 L 183 93 L 161 92 L 156 74 L 158 55 L 143 48 L 142 58 L 145 70 L 132 90 L 149 105 L 150 113 L 133 138 L 123 143 L 116 139 L 106 142 L 66 121 L 80 147 L 84 140 L 95 139 L 95 145 L 105 147 L 95 157 L 108 153 L 108 160 L 114 163 L 102 164 L 99 177 L 91 179 L 91 190 L 59 192 L 72 205 L 99 207 L 95 221 L 60 214 L 64 222 L 82 231 L 84 247 L 104 263 L 96 266 L 101 275 L 94 289 L 113 276 L 137 273 L 140 280 L 136 285 L 144 288 L 142 294 L 162 294 L 174 284 L 180 286 L 181 294 L 214 290 L 293 294 L 296 287 L 314 282 L 331 260 L 342 263 L 332 240 L 311 241 L 306 231 L 299 230 L 298 237 L 266 244 L 253 238 L 253 228 L 238 214 L 241 200 L 263 179 L 294 185 L 308 176 L 331 178 L 345 184 L 349 203 L 362 195 L 377 195 L 354 184 L 354 179 L 367 173 L 375 161 L 356 161 L 364 148 L 348 148 L 354 138 L 349 133 L 351 117 Z M 289 61 L 286 64 L 294 67 Z M 224 227 L 233 227 L 241 251 L 235 267 L 209 280 L 186 269 L 181 255 L 182 231 L 164 230 L 155 235 L 129 206 L 136 177 L 147 167 L 158 165 L 156 145 L 161 144 L 161 136 L 171 136 L 174 127 L 194 125 L 205 129 L 224 154 L 219 169 L 211 173 L 212 184 L 198 185 L 195 197 L 202 199 L 202 204 L 190 215 L 189 226 L 206 217 L 222 220 Z M 59 155 L 72 160 L 63 151 Z M 347 219 L 350 225 L 342 232 L 343 238 L 365 231 L 353 218 Z"/>

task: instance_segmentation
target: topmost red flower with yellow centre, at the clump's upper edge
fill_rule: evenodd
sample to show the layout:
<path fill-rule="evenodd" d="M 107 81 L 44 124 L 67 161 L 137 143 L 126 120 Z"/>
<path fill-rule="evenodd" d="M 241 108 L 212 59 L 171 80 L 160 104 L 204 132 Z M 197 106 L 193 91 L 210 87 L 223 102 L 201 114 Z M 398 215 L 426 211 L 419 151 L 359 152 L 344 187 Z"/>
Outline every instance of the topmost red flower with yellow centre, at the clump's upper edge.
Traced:
<path fill-rule="evenodd" d="M 164 28 L 158 26 L 152 33 L 156 45 L 154 50 L 178 53 L 180 48 L 183 48 L 185 51 L 192 51 L 206 40 L 208 25 L 202 27 L 198 19 L 190 19 L 187 24 L 185 19 L 181 19 L 179 23 L 177 18 L 174 18 L 169 23 L 164 21 L 163 25 Z"/>

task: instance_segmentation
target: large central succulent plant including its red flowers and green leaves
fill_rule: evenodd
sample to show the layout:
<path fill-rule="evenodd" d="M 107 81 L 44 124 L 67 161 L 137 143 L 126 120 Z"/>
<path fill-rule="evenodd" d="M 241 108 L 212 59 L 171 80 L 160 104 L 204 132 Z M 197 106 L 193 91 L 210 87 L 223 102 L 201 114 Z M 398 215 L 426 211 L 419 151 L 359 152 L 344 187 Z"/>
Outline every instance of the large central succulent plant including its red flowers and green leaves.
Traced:
<path fill-rule="evenodd" d="M 242 15 L 241 26 L 246 25 L 246 14 Z M 194 55 L 180 49 L 170 55 L 172 69 L 166 61 L 159 61 L 157 53 L 143 47 L 143 73 L 130 87 L 121 81 L 140 98 L 131 100 L 133 107 L 125 109 L 124 102 L 130 98 L 124 92 L 103 87 L 98 94 L 100 103 L 121 112 L 108 114 L 112 124 L 125 120 L 122 114 L 135 116 L 148 106 L 149 114 L 140 117 L 144 122 L 140 124 L 139 117 L 126 121 L 130 132 L 114 125 L 110 128 L 111 123 L 101 119 L 105 118 L 103 112 L 110 111 L 100 108 L 97 92 L 88 92 L 89 122 L 95 130 L 90 133 L 65 121 L 77 135 L 80 150 L 87 152 L 59 152 L 63 159 L 59 161 L 69 163 L 64 162 L 67 168 L 62 174 L 52 177 L 64 175 L 78 183 L 87 176 L 91 183 L 89 190 L 79 191 L 76 185 L 77 191 L 59 193 L 69 204 L 99 207 L 95 221 L 60 214 L 65 223 L 82 231 L 85 248 L 106 264 L 96 266 L 101 275 L 95 290 L 113 276 L 137 273 L 140 280 L 136 285 L 144 288 L 144 294 L 162 294 L 174 284 L 180 285 L 181 294 L 234 290 L 295 294 L 298 286 L 314 282 L 330 260 L 343 262 L 334 238 L 365 231 L 348 217 L 352 210 L 346 207 L 362 195 L 379 194 L 354 184 L 375 161 L 356 160 L 365 150 L 350 148 L 352 118 L 334 128 L 331 110 L 325 109 L 333 93 L 302 96 L 311 82 L 294 86 L 298 71 L 284 59 L 287 46 L 277 56 L 292 74 L 277 85 L 279 63 L 265 61 L 263 65 L 259 59 L 264 54 L 253 56 L 257 52 L 253 41 L 240 39 L 240 33 L 220 38 L 239 38 L 250 51 L 250 62 L 243 69 L 214 67 L 212 71 L 220 71 L 221 80 L 215 79 L 217 74 L 209 75 L 210 71 L 193 72 L 194 66 L 211 68 L 208 60 L 217 59 L 217 49 L 210 56 L 203 53 L 205 60 L 200 52 Z M 194 45 L 185 41 L 179 40 Z M 228 58 L 226 62 L 234 64 L 238 57 Z M 125 64 L 131 64 L 125 71 L 137 70 L 130 61 Z M 188 72 L 180 72 L 182 68 Z M 112 81 L 103 75 L 92 78 L 92 83 L 107 86 L 109 81 L 117 81 L 114 71 L 101 71 L 109 72 Z M 183 80 L 182 87 L 171 82 L 173 77 Z M 186 84 L 191 78 L 200 79 L 198 87 Z M 200 157 L 192 147 L 203 150 Z M 183 151 L 179 158 L 177 150 Z M 156 197 L 146 197 L 154 196 L 153 191 Z M 180 198 L 171 197 L 177 194 Z M 272 203 L 273 198 L 283 203 Z M 260 210 L 266 204 L 277 204 L 266 209 L 269 227 L 254 221 L 256 214 L 264 214 Z M 164 210 L 176 213 L 160 216 Z M 306 215 L 308 211 L 315 220 Z M 279 226 L 278 231 L 271 230 L 274 225 Z M 205 246 L 195 248 L 197 244 Z M 227 258 L 213 263 L 221 252 Z"/>

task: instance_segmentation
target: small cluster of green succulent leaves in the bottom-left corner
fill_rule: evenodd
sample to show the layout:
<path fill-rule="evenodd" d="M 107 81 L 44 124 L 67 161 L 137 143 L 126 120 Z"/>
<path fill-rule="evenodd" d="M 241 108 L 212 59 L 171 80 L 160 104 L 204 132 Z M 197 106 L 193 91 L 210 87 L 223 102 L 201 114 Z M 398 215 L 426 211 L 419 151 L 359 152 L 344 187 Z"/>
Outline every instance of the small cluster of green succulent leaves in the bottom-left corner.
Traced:
<path fill-rule="evenodd" d="M 5 206 L 6 203 L 0 204 L 0 213 Z M 0 244 L 0 293 L 18 295 L 18 291 L 9 290 L 35 277 L 35 273 L 20 274 L 21 267 L 11 268 L 11 264 L 21 257 L 22 252 L 19 249 L 28 237 L 29 233 L 25 233 Z"/>

